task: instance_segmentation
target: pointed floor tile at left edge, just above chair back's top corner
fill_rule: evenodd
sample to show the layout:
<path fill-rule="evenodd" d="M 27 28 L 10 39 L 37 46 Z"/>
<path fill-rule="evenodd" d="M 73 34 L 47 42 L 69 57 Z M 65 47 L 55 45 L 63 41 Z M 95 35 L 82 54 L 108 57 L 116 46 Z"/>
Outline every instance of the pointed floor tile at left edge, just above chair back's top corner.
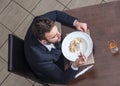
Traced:
<path fill-rule="evenodd" d="M 3 45 L 3 43 L 7 40 L 8 34 L 11 32 L 6 29 L 3 25 L 0 24 L 0 47 Z"/>

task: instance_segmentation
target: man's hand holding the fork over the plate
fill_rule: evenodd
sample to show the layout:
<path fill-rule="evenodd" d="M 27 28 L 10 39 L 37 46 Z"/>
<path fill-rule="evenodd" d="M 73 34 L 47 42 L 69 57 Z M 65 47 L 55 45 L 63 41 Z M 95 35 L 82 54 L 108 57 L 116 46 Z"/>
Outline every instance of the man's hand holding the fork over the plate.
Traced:
<path fill-rule="evenodd" d="M 86 62 L 86 57 L 83 54 L 80 54 L 78 58 L 73 62 L 73 67 L 78 68 L 80 64 L 84 64 Z"/>

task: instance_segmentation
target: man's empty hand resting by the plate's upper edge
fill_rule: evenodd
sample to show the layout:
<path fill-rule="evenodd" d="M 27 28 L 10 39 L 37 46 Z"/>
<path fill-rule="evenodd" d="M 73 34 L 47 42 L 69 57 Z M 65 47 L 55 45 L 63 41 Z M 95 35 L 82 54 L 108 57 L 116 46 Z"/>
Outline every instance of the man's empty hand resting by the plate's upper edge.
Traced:
<path fill-rule="evenodd" d="M 87 32 L 87 24 L 79 22 L 78 20 L 74 21 L 74 26 L 76 27 L 77 30 L 80 30 L 82 32 Z"/>

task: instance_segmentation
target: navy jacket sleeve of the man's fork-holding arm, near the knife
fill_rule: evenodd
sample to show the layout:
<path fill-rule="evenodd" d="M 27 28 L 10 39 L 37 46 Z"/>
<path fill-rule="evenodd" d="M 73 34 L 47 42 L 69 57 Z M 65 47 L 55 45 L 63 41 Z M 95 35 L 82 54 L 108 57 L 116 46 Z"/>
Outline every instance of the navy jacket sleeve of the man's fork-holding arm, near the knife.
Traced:
<path fill-rule="evenodd" d="M 52 59 L 48 60 L 48 58 L 52 58 L 53 55 L 51 54 L 44 54 L 43 52 L 36 53 L 34 49 L 32 49 L 32 52 L 34 52 L 34 55 L 33 53 L 32 55 L 34 58 L 36 58 L 36 60 L 31 59 L 33 62 L 31 66 L 38 77 L 41 77 L 39 75 L 42 73 L 48 78 L 52 79 L 52 81 L 58 83 L 67 83 L 69 80 L 73 79 L 75 74 L 78 72 L 73 70 L 71 67 L 65 71 L 61 70 Z M 41 58 L 44 59 L 42 60 Z"/>

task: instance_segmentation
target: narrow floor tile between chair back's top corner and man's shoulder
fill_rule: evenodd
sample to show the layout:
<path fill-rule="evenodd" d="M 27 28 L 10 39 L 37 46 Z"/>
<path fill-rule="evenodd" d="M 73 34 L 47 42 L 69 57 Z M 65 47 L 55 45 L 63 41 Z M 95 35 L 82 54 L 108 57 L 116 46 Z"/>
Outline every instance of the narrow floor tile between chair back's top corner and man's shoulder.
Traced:
<path fill-rule="evenodd" d="M 29 28 L 29 26 L 30 26 L 33 18 L 34 18 L 34 17 L 33 17 L 32 15 L 29 15 L 29 16 L 25 19 L 25 21 L 23 21 L 23 23 L 19 26 L 19 28 L 15 31 L 15 34 L 16 34 L 18 37 L 24 39 L 24 37 L 25 37 L 25 35 L 26 35 L 26 32 L 27 32 L 27 30 L 28 30 L 28 28 Z"/>

